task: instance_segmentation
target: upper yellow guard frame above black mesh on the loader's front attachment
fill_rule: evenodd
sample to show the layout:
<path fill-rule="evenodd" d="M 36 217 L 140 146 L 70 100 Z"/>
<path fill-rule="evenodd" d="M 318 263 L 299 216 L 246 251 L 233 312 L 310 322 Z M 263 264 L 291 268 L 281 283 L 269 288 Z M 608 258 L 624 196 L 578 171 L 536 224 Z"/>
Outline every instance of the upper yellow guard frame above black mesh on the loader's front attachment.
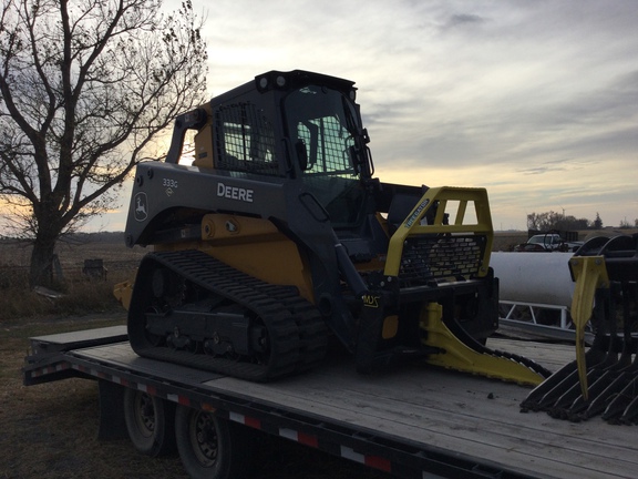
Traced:
<path fill-rule="evenodd" d="M 473 208 L 469 207 L 472 205 Z M 431 224 L 426 224 L 428 213 L 433 208 L 436 212 L 434 218 L 431 220 Z M 449 224 L 444 224 L 446 217 Z M 487 191 L 452 186 L 429 188 L 390 238 L 385 276 L 399 276 L 403 244 L 408 236 L 469 233 L 482 234 L 487 238 L 477 273 L 477 276 L 485 276 L 494 236 Z"/>

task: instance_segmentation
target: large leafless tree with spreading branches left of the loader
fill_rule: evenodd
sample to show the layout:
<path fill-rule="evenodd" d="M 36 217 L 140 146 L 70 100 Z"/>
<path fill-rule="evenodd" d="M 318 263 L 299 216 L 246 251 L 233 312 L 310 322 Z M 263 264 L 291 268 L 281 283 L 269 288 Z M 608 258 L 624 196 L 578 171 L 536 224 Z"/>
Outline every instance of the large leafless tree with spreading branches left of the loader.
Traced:
<path fill-rule="evenodd" d="M 33 285 L 56 241 L 205 101 L 206 44 L 191 0 L 174 14 L 161 0 L 2 1 L 0 202 L 33 242 Z"/>

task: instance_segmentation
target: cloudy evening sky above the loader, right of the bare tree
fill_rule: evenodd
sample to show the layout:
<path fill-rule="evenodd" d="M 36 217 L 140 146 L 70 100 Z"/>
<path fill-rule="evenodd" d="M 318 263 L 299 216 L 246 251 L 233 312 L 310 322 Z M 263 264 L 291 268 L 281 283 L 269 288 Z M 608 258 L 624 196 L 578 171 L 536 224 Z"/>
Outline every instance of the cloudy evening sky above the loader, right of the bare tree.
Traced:
<path fill-rule="evenodd" d="M 210 96 L 269 70 L 354 81 L 381 181 L 485 187 L 497 231 L 548 211 L 638 218 L 637 0 L 193 7 Z M 89 230 L 124 230 L 121 203 Z"/>

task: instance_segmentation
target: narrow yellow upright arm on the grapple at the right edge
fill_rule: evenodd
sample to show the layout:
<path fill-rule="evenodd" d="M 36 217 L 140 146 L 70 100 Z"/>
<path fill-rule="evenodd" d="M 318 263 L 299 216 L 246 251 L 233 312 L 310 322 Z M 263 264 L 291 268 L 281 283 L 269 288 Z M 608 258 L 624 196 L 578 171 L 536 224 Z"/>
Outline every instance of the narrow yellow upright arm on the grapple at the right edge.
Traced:
<path fill-rule="evenodd" d="M 574 256 L 569 268 L 576 281 L 572 297 L 572 318 L 576 328 L 576 365 L 583 398 L 588 398 L 587 364 L 585 359 L 585 326 L 591 318 L 596 289 L 608 288 L 609 277 L 604 256 Z"/>

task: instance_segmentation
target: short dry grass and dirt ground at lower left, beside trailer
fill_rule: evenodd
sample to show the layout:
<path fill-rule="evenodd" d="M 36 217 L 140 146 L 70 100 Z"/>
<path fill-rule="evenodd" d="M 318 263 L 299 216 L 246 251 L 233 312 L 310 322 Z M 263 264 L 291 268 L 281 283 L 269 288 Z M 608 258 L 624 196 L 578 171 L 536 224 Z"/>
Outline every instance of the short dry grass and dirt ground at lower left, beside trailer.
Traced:
<path fill-rule="evenodd" d="M 2 327 L 0 478 L 184 477 L 178 461 L 151 461 L 135 453 L 126 441 L 97 442 L 94 381 L 69 379 L 22 386 L 28 336 L 121 322 L 122 315 L 115 322 L 79 318 Z M 134 473 L 128 473 L 132 470 Z"/>

